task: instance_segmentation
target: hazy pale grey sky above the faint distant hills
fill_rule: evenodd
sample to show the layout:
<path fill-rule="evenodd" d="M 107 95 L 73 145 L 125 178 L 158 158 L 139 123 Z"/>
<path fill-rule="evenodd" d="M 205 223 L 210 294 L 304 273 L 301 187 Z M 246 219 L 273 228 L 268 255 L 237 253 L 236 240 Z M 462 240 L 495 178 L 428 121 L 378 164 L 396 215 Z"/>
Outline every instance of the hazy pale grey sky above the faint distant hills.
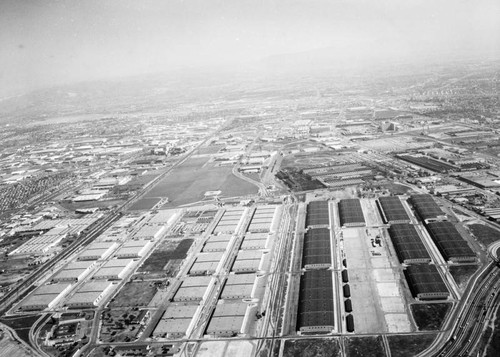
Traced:
<path fill-rule="evenodd" d="M 328 48 L 500 49 L 500 0 L 0 0 L 0 97 Z"/>

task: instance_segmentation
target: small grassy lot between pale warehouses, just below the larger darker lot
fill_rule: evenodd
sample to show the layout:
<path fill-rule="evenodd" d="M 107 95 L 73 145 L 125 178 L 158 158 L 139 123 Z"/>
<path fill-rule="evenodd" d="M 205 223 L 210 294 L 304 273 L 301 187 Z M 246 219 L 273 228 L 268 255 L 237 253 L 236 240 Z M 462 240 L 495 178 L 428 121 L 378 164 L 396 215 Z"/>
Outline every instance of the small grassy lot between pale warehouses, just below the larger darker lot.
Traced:
<path fill-rule="evenodd" d="M 111 300 L 109 307 L 147 306 L 156 294 L 156 287 L 150 281 L 128 282 Z"/>

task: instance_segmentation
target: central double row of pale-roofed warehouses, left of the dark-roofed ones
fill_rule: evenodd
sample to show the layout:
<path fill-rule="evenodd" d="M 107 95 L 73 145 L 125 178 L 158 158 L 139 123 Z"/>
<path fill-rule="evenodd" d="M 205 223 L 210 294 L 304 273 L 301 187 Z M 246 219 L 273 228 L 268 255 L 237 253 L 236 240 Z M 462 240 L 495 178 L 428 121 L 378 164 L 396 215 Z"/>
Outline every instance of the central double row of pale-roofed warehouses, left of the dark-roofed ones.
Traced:
<path fill-rule="evenodd" d="M 226 209 L 175 291 L 153 336 L 189 335 L 196 327 L 194 316 L 201 314 L 204 301 L 214 288 L 218 289 L 218 301 L 205 334 L 220 337 L 246 333 L 266 284 L 267 277 L 262 272 L 268 265 L 268 251 L 280 214 L 281 207 L 275 205 Z M 229 268 L 227 274 L 223 267 Z"/>

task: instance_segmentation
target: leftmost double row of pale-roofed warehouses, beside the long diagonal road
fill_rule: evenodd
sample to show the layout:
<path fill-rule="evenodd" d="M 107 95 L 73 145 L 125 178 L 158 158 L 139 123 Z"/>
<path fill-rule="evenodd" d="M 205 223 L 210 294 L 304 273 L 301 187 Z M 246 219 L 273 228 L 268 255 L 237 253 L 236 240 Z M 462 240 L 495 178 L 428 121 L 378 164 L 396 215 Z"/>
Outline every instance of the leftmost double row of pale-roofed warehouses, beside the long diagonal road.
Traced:
<path fill-rule="evenodd" d="M 122 217 L 55 271 L 48 283 L 36 288 L 17 308 L 26 311 L 98 306 L 115 291 L 119 281 L 137 268 L 175 217 L 175 211 Z"/>

